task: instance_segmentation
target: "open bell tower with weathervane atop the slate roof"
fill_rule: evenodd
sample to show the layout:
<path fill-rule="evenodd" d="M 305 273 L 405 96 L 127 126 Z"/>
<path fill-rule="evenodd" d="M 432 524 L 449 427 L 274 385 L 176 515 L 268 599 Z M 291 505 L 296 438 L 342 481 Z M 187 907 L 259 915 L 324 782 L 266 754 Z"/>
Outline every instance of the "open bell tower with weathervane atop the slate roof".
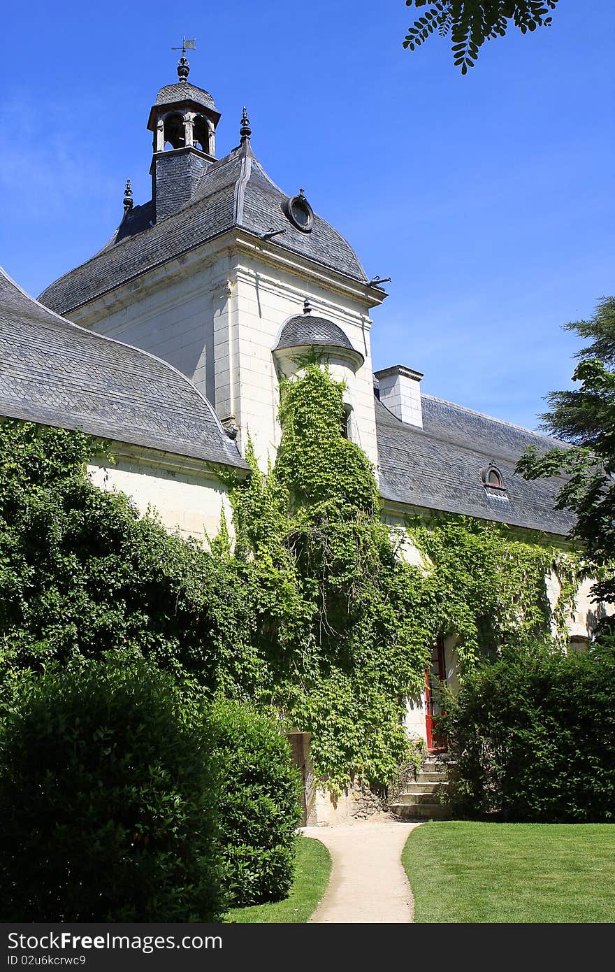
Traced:
<path fill-rule="evenodd" d="M 154 133 L 150 175 L 155 223 L 188 202 L 204 169 L 216 159 L 220 112 L 209 91 L 189 83 L 189 70 L 186 48 L 183 48 L 177 65 L 177 83 L 160 88 L 150 112 L 148 128 Z"/>

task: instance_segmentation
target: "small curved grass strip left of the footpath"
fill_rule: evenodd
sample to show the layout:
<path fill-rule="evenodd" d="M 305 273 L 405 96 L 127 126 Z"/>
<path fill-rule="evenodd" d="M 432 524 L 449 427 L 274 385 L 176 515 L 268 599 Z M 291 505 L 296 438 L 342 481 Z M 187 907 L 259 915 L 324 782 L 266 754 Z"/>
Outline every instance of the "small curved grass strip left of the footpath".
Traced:
<path fill-rule="evenodd" d="M 224 921 L 234 924 L 303 924 L 316 911 L 331 873 L 331 856 L 313 837 L 300 837 L 290 894 L 284 901 L 232 908 Z"/>

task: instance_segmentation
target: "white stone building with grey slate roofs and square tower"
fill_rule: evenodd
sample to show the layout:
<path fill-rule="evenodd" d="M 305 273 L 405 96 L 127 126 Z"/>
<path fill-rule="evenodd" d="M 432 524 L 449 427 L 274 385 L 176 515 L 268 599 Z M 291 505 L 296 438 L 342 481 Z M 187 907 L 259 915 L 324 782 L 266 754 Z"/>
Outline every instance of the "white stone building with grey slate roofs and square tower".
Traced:
<path fill-rule="evenodd" d="M 111 240 L 40 302 L 0 276 L 0 413 L 108 439 L 117 465 L 92 462 L 94 482 L 154 505 L 170 529 L 211 535 L 227 503 L 218 472 L 248 474 L 248 434 L 263 466 L 274 458 L 280 378 L 315 350 L 345 379 L 347 434 L 376 469 L 392 529 L 439 510 L 564 541 L 561 481 L 514 472 L 526 446 L 553 440 L 422 394 L 412 367 L 373 374 L 382 284 L 302 189 L 269 179 L 245 109 L 238 146 L 217 157 L 220 113 L 188 71 L 184 56 L 150 112 L 152 199 L 134 205 L 128 184 Z M 581 642 L 588 611 L 586 588 L 571 629 Z M 434 666 L 455 681 L 453 642 Z M 415 703 L 409 730 L 427 738 L 428 716 Z"/>

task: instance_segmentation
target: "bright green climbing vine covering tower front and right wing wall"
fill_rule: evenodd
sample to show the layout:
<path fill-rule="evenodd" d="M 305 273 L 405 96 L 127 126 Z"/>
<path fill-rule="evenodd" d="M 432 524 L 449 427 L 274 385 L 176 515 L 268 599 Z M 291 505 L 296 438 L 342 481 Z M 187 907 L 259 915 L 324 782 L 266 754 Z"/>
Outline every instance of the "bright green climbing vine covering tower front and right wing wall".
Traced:
<path fill-rule="evenodd" d="M 313 734 L 317 775 L 391 781 L 409 757 L 403 720 L 431 645 L 454 635 L 461 677 L 504 645 L 556 646 L 577 586 L 576 555 L 484 521 L 407 521 L 424 565 L 397 553 L 374 471 L 342 433 L 343 386 L 316 362 L 283 382 L 275 465 L 232 492 L 235 556 L 256 602 L 253 686 Z M 552 608 L 547 578 L 562 584 Z"/>

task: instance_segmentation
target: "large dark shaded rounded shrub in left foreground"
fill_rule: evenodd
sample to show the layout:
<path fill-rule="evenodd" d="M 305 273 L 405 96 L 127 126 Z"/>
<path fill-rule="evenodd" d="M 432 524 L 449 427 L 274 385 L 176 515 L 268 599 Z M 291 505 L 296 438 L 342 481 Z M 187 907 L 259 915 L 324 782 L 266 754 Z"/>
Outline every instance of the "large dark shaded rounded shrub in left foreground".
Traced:
<path fill-rule="evenodd" d="M 211 752 L 202 708 L 143 660 L 19 677 L 0 729 L 2 920 L 216 920 Z"/>

